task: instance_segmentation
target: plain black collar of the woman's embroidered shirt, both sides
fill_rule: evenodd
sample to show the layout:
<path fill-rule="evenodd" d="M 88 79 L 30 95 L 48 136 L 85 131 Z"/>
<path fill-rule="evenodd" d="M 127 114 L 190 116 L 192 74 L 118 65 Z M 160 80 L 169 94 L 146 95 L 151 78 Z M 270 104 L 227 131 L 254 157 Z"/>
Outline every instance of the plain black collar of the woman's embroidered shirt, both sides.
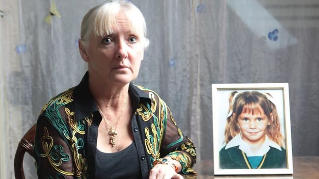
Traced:
<path fill-rule="evenodd" d="M 93 98 L 88 83 L 88 71 L 83 76 L 80 84 L 73 90 L 75 120 L 78 121 L 84 117 L 88 117 L 93 112 L 98 112 L 97 104 Z M 132 99 L 133 111 L 138 107 L 142 100 L 151 101 L 147 92 L 140 90 L 133 83 L 130 83 L 129 94 Z"/>

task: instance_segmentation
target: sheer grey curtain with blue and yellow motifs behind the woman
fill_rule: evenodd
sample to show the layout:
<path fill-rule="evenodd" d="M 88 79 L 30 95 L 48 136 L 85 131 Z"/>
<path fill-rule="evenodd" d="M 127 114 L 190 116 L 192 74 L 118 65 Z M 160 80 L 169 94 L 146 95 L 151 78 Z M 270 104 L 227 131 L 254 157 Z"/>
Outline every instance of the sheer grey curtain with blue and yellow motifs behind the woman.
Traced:
<path fill-rule="evenodd" d="M 14 178 L 16 147 L 42 106 L 87 70 L 80 22 L 100 1 L 0 2 L 1 178 Z M 199 159 L 213 158 L 212 83 L 289 83 L 292 153 L 319 155 L 319 0 L 132 2 L 151 42 L 134 83 L 165 100 Z M 36 178 L 31 157 L 24 166 Z"/>

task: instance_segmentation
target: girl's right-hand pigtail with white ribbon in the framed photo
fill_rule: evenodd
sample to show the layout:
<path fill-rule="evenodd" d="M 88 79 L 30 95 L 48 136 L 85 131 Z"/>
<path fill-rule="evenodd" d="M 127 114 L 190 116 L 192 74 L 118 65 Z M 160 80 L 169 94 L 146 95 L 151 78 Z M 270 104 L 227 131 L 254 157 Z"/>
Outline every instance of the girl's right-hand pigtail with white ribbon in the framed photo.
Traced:
<path fill-rule="evenodd" d="M 275 104 L 272 102 L 272 100 L 269 99 L 269 97 L 268 97 L 268 96 L 270 96 L 272 98 L 272 96 L 269 93 L 266 93 L 266 96 L 269 100 L 270 112 L 272 113 L 271 124 L 267 128 L 267 135 L 271 140 L 273 140 L 278 145 L 283 147 L 284 137 L 280 132 L 280 121 L 279 121 L 279 115 L 277 112 L 277 108 L 276 108 Z"/>

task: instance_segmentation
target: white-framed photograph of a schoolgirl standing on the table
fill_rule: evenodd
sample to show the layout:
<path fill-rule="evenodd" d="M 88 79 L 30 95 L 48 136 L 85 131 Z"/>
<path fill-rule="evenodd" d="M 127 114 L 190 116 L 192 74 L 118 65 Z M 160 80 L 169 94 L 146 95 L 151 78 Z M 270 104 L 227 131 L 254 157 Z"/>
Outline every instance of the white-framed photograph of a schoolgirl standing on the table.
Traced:
<path fill-rule="evenodd" d="M 212 84 L 214 175 L 292 174 L 288 83 Z"/>

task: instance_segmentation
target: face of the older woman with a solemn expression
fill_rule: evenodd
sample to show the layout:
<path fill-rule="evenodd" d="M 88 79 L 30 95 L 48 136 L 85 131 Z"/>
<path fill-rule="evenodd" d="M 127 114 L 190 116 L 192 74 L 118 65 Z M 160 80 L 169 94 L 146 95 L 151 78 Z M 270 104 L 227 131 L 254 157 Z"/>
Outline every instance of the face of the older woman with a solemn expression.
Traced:
<path fill-rule="evenodd" d="M 120 10 L 113 33 L 92 37 L 87 52 L 90 75 L 104 82 L 123 85 L 133 81 L 144 55 L 143 32 L 133 33 L 124 11 Z"/>

